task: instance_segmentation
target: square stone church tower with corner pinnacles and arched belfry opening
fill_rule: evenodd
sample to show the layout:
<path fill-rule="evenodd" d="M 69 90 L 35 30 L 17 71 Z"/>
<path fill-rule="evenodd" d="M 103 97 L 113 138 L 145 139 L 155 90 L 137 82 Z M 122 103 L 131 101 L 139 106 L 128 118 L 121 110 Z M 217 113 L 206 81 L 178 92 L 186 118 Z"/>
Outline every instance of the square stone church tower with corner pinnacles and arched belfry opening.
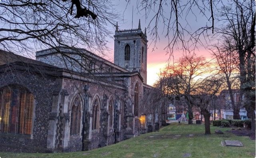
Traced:
<path fill-rule="evenodd" d="M 126 70 L 138 71 L 147 84 L 147 35 L 141 30 L 141 21 L 137 29 L 119 30 L 115 28 L 114 63 Z"/>

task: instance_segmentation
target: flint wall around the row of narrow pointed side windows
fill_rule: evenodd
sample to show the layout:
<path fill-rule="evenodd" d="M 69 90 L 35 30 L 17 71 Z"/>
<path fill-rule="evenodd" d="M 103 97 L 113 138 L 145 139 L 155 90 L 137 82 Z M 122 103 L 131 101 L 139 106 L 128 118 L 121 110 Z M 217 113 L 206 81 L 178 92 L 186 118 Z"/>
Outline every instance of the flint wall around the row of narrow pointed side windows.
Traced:
<path fill-rule="evenodd" d="M 115 133 L 108 133 L 108 114 L 107 114 L 107 100 L 112 97 L 115 100 L 115 93 L 118 94 L 119 98 L 123 98 L 125 91 L 117 88 L 105 87 L 97 84 L 79 82 L 70 79 L 64 79 L 62 82 L 62 88 L 67 90 L 69 94 L 69 113 L 71 112 L 71 101 L 74 96 L 79 95 L 79 92 L 82 92 L 81 96 L 83 96 L 83 85 L 89 86 L 88 93 L 90 94 L 90 102 L 89 102 L 89 113 L 91 112 L 93 99 L 98 96 L 100 99 L 100 122 L 99 122 L 99 130 L 90 131 L 91 138 L 88 139 L 89 149 L 99 148 L 106 145 L 114 144 L 115 142 Z M 105 98 L 104 98 L 105 96 Z M 90 127 L 91 128 L 91 127 Z M 112 130 L 113 131 L 113 130 Z M 81 133 L 81 132 L 80 132 Z M 123 134 L 122 134 L 123 135 Z M 82 136 L 76 136 L 75 138 L 69 137 L 68 146 L 65 149 L 66 151 L 81 151 Z M 68 139 L 68 138 L 67 138 Z M 123 138 L 121 138 L 123 140 Z"/>

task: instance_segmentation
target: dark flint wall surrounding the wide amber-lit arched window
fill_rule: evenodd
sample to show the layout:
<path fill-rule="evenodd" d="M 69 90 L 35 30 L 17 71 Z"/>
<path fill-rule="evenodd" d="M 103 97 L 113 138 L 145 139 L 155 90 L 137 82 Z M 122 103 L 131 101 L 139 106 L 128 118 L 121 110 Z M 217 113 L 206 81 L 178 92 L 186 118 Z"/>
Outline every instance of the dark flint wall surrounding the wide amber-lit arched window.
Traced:
<path fill-rule="evenodd" d="M 52 92 L 60 86 L 58 80 L 30 72 L 0 73 L 0 89 L 8 85 L 25 87 L 34 95 L 34 126 L 32 135 L 0 133 L 0 151 L 48 152 L 46 144 Z"/>

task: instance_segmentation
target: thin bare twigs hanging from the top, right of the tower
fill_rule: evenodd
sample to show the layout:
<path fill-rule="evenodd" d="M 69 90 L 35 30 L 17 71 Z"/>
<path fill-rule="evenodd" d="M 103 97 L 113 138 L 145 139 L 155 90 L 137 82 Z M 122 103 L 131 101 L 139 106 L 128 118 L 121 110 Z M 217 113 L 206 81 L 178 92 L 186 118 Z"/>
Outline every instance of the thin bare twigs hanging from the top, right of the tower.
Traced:
<path fill-rule="evenodd" d="M 155 47 L 160 38 L 159 34 L 163 34 L 168 39 L 165 50 L 171 57 L 175 49 L 183 49 L 187 52 L 190 51 L 191 46 L 192 50 L 196 49 L 197 43 L 203 45 L 201 40 L 204 35 L 214 32 L 214 11 L 219 1 L 137 0 L 137 10 L 145 12 L 145 18 L 149 20 L 147 29 Z M 194 30 L 191 17 L 198 23 L 204 18 L 205 21 L 210 21 L 210 24 L 200 23 L 202 24 L 200 28 Z M 160 27 L 162 24 L 163 28 Z"/>

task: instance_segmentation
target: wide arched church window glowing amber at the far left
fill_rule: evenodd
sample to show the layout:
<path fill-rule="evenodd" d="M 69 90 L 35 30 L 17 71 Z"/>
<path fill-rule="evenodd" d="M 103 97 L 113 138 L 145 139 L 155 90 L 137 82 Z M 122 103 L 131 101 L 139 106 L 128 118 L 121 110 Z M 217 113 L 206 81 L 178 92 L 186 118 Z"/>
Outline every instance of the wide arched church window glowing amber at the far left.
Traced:
<path fill-rule="evenodd" d="M 0 131 L 32 133 L 34 96 L 25 88 L 8 86 L 0 90 Z"/>

